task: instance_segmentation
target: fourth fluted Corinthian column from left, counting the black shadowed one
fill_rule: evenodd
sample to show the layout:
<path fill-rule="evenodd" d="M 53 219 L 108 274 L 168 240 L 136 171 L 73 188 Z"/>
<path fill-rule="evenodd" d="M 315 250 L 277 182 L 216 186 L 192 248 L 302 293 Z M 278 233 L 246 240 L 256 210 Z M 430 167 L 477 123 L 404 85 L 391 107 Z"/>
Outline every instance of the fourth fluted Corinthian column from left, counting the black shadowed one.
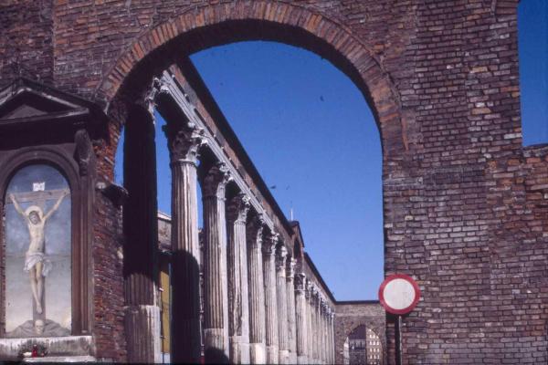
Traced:
<path fill-rule="evenodd" d="M 230 363 L 249 363 L 248 250 L 249 197 L 238 194 L 227 204 L 228 335 Z"/>

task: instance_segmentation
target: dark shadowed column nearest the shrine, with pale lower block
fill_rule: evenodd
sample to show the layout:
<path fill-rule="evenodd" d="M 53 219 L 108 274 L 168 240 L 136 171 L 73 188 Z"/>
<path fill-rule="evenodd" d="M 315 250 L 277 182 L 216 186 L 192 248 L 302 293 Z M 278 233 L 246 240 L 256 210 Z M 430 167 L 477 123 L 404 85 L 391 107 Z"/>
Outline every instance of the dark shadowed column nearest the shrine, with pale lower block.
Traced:
<path fill-rule="evenodd" d="M 160 360 L 160 308 L 156 300 L 158 218 L 153 110 L 129 110 L 124 142 L 123 210 L 125 329 L 128 360 Z"/>

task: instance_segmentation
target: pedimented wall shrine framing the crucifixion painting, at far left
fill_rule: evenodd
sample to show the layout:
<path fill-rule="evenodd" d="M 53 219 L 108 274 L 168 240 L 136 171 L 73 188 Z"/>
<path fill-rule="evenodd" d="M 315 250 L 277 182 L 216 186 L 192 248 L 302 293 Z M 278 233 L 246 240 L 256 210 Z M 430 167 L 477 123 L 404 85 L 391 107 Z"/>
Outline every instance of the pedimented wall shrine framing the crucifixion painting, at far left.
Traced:
<path fill-rule="evenodd" d="M 92 353 L 91 206 L 116 193 L 94 172 L 99 116 L 35 81 L 0 90 L 0 359 Z"/>

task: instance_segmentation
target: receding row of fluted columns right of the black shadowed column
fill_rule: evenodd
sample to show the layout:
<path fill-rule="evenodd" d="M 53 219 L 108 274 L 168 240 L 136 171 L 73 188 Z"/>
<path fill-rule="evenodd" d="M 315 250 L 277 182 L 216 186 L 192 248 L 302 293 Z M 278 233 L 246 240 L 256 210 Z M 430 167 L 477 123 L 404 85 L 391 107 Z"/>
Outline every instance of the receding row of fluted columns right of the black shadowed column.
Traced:
<path fill-rule="evenodd" d="M 175 362 L 200 354 L 199 297 L 193 267 L 199 266 L 198 176 L 204 214 L 204 353 L 206 362 L 332 363 L 332 310 L 321 289 L 303 273 L 279 235 L 238 192 L 227 201 L 232 180 L 224 162 L 198 163 L 202 143 L 195 130 L 168 124 L 172 156 L 173 350 Z M 183 152 L 183 153 L 182 153 Z M 190 266 L 190 267 L 189 267 Z M 184 274 L 184 275 L 181 275 Z M 192 288 L 192 290 L 189 290 Z M 179 308 L 190 308 L 178 313 Z M 184 350 L 183 350 L 184 349 Z"/>

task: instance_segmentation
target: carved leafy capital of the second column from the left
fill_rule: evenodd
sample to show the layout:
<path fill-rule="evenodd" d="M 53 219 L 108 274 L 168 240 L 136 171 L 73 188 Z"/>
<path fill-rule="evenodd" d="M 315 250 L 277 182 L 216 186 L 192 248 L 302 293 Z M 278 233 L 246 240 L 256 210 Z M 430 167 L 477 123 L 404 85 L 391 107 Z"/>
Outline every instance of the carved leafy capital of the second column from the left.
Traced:
<path fill-rule="evenodd" d="M 196 165 L 198 149 L 205 143 L 204 130 L 197 128 L 191 122 L 186 122 L 184 125 L 169 122 L 163 126 L 162 130 L 167 138 L 171 163 L 193 163 Z"/>

